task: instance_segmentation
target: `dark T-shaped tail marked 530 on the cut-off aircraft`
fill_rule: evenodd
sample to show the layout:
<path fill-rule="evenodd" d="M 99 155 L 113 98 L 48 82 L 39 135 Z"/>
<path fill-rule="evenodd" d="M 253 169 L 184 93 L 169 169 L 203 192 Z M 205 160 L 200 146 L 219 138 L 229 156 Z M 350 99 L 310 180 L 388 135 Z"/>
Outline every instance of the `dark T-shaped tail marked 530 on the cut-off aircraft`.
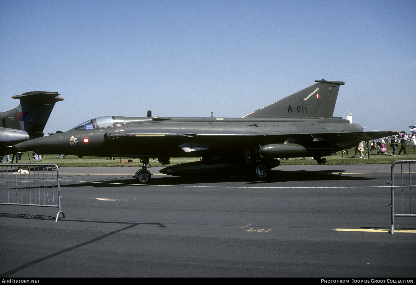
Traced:
<path fill-rule="evenodd" d="M 35 91 L 12 96 L 20 99 L 20 104 L 15 109 L 0 113 L 1 126 L 42 136 L 55 103 L 64 99 L 58 95 L 57 92 Z"/>

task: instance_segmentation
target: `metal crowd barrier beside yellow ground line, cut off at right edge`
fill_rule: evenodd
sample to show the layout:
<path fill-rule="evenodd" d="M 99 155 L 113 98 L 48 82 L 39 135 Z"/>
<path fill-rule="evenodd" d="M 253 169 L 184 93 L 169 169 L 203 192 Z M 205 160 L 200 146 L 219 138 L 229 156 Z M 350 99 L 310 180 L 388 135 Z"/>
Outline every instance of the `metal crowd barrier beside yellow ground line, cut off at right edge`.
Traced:
<path fill-rule="evenodd" d="M 388 184 L 391 184 L 391 204 L 388 204 L 387 207 L 391 208 L 391 231 L 390 233 L 394 234 L 394 217 L 416 217 L 416 214 L 412 214 L 412 187 L 416 187 L 415 185 L 412 186 L 412 172 L 411 172 L 411 164 L 416 163 L 416 160 L 399 160 L 395 161 L 391 165 L 391 181 L 387 181 Z M 401 169 L 401 179 L 399 181 L 394 180 L 394 166 L 396 164 L 400 164 Z M 409 172 L 403 169 L 403 164 L 409 164 Z M 405 165 L 406 166 L 406 165 Z M 401 208 L 400 213 L 394 212 L 394 189 L 401 190 L 401 204 L 399 208 Z M 397 201 L 396 201 L 397 203 Z M 398 203 L 397 203 L 398 204 Z"/>

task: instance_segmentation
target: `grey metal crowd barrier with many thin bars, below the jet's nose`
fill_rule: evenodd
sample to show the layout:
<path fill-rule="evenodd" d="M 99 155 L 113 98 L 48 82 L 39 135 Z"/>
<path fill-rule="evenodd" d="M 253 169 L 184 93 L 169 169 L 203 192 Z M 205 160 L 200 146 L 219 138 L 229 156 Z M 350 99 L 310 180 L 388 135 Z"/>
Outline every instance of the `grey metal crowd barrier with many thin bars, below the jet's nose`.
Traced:
<path fill-rule="evenodd" d="M 62 213 L 59 169 L 55 164 L 2 165 L 0 204 L 58 208 Z"/>

